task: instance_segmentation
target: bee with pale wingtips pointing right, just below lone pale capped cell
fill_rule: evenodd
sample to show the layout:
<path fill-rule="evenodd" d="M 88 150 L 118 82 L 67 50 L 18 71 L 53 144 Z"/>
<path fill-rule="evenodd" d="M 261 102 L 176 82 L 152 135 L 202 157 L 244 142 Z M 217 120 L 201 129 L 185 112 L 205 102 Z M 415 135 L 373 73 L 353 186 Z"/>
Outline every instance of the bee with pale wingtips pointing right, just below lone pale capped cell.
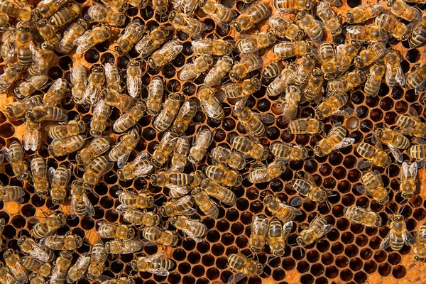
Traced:
<path fill-rule="evenodd" d="M 315 155 L 322 157 L 332 151 L 352 145 L 355 139 L 346 137 L 346 133 L 347 129 L 345 126 L 341 126 L 339 123 L 334 124 L 327 136 L 317 142 L 317 145 L 314 147 Z"/>

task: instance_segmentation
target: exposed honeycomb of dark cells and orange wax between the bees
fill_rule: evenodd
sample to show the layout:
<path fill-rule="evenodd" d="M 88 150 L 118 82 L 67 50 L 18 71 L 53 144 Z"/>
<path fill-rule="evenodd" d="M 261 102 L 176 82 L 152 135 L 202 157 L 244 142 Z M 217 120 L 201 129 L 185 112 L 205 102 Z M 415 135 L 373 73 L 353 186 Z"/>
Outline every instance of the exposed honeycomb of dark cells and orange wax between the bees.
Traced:
<path fill-rule="evenodd" d="M 75 0 L 82 5 L 82 15 L 87 12 L 92 0 Z M 266 1 L 262 1 L 266 2 Z M 348 9 L 354 8 L 361 4 L 366 4 L 366 0 L 350 0 L 343 1 L 339 8 L 333 7 L 339 17 L 343 18 Z M 379 1 L 383 6 L 384 1 Z M 35 6 L 37 1 L 30 4 Z M 241 1 L 224 0 L 224 6 L 227 6 L 237 13 L 241 13 L 247 7 Z M 420 10 L 424 11 L 424 4 L 414 4 Z M 204 35 L 207 38 L 223 38 L 236 42 L 240 37 L 239 33 L 234 30 L 225 31 L 216 26 L 211 18 L 197 10 L 196 16 L 207 25 L 207 31 Z M 151 31 L 164 23 L 167 16 L 155 14 L 151 6 L 146 9 L 137 9 L 131 7 L 126 12 L 126 25 L 133 19 L 138 18 L 144 23 L 146 30 Z M 126 26 L 125 25 L 125 26 Z M 94 23 L 89 25 L 89 28 Z M 267 28 L 266 21 L 262 21 L 257 30 L 265 31 Z M 256 29 L 252 29 L 249 33 L 256 33 Z M 112 36 L 109 40 L 99 43 L 87 50 L 82 55 L 71 54 L 58 55 L 48 71 L 50 80 L 64 78 L 70 82 L 70 71 L 72 66 L 84 65 L 87 70 L 92 65 L 107 62 L 116 64 L 120 71 L 126 70 L 129 60 L 137 59 L 138 53 L 131 49 L 129 53 L 118 56 L 114 50 L 110 48 L 118 35 L 124 31 L 124 28 L 111 27 Z M 180 31 L 175 32 L 175 38 L 178 38 L 184 46 L 182 53 L 178 55 L 170 64 L 165 65 L 160 70 L 152 70 L 148 68 L 143 75 L 143 84 L 148 85 L 151 79 L 160 75 L 165 78 L 165 93 L 180 92 L 184 94 L 185 99 L 196 97 L 197 90 L 204 82 L 204 75 L 197 77 L 192 82 L 180 82 L 178 80 L 178 72 L 188 62 L 192 62 L 191 38 Z M 331 40 L 331 35 L 327 35 L 327 40 Z M 334 38 L 335 42 L 343 42 L 343 35 Z M 406 42 L 397 42 L 392 39 L 388 42 L 388 47 L 398 50 L 403 56 L 401 66 L 403 72 L 407 73 L 415 67 L 415 65 L 426 62 L 425 47 L 410 48 Z M 271 50 L 261 51 L 263 59 L 263 67 L 269 62 L 276 60 Z M 232 56 L 235 60 L 239 58 L 239 54 L 234 52 Z M 1 70 L 4 69 L 1 64 Z M 259 70 L 253 72 L 253 77 L 260 77 Z M 122 72 L 124 78 L 125 72 Z M 124 80 L 125 82 L 125 80 Z M 124 84 L 124 83 L 122 83 Z M 268 84 L 268 82 L 264 82 Z M 45 90 L 43 90 L 44 92 Z M 37 94 L 37 93 L 36 93 Z M 143 90 L 142 97 L 145 99 L 148 95 L 146 89 Z M 266 86 L 251 95 L 246 103 L 251 109 L 255 109 L 260 113 L 271 113 L 271 105 L 277 98 L 269 98 L 266 95 Z M 408 114 L 409 107 L 414 107 L 419 114 L 424 115 L 426 109 L 423 107 L 423 93 L 416 93 L 414 90 L 405 90 L 403 87 L 389 88 L 384 82 L 376 97 L 366 97 L 361 88 L 354 89 L 351 92 L 350 101 L 347 106 L 352 107 L 355 112 L 352 117 L 331 116 L 324 119 L 326 131 L 331 129 L 332 124 L 337 122 L 346 125 L 349 129 L 349 137 L 355 139 L 354 145 L 362 141 L 371 141 L 372 129 L 375 127 L 393 127 L 395 126 L 395 117 L 399 114 Z M 13 102 L 14 98 L 11 94 L 1 94 L 0 107 L 5 109 L 6 105 Z M 67 111 L 69 118 L 80 116 L 80 118 L 89 124 L 92 118 L 92 109 L 82 105 L 75 104 L 70 97 L 66 97 L 61 103 L 62 109 Z M 231 104 L 223 102 L 226 118 L 223 121 L 207 118 L 202 111 L 198 111 L 194 117 L 194 124 L 186 131 L 186 135 L 194 138 L 197 131 L 202 126 L 207 126 L 213 133 L 213 141 L 209 150 L 215 146 L 229 144 L 230 138 L 236 135 L 245 134 L 244 126 L 239 124 L 234 116 L 231 115 Z M 117 109 L 112 111 L 109 126 L 107 126 L 107 135 L 111 138 L 111 143 L 116 143 L 119 135 L 111 130 L 111 124 L 120 116 Z M 315 110 L 312 104 L 302 104 L 299 108 L 298 117 L 315 116 Z M 129 160 L 133 160 L 140 152 L 153 153 L 155 146 L 158 145 L 163 133 L 158 133 L 153 128 L 153 121 L 149 116 L 143 116 L 138 122 L 141 126 L 141 141 L 131 153 Z M 284 141 L 287 143 L 297 143 L 302 146 L 313 147 L 320 140 L 321 136 L 293 135 L 287 131 L 288 124 L 283 122 L 281 116 L 277 116 L 273 124 L 268 125 L 266 136 L 260 141 L 264 146 L 270 146 L 274 141 Z M 9 146 L 11 141 L 18 139 L 23 140 L 25 126 L 21 119 L 9 119 L 0 113 L 0 146 Z M 50 143 L 50 138 L 46 137 L 43 132 L 45 146 Z M 392 164 L 388 169 L 375 168 L 382 175 L 384 185 L 389 189 L 391 201 L 386 205 L 378 204 L 370 197 L 361 195 L 356 191 L 356 187 L 361 185 L 361 170 L 356 167 L 356 163 L 361 159 L 354 151 L 354 145 L 334 151 L 324 157 L 311 157 L 307 160 L 293 161 L 288 164 L 287 170 L 280 175 L 280 178 L 272 182 L 253 185 L 247 180 L 239 187 L 232 190 L 236 194 L 237 201 L 234 206 L 221 204 L 219 207 L 219 217 L 217 219 L 204 218 L 203 214 L 198 210 L 197 214 L 202 217 L 202 223 L 208 228 L 207 236 L 203 241 L 196 243 L 192 239 L 185 239 L 181 236 L 178 246 L 175 248 L 161 246 L 145 246 L 142 253 L 153 255 L 155 253 L 164 253 L 164 256 L 173 258 L 176 266 L 170 271 L 170 275 L 162 277 L 151 273 L 135 274 L 131 270 L 130 263 L 136 258 L 136 255 L 126 254 L 118 257 L 109 255 L 105 265 L 104 275 L 114 277 L 124 273 L 131 275 L 136 283 L 184 283 L 184 284 L 207 284 L 207 283 L 226 283 L 231 277 L 232 272 L 227 267 L 227 256 L 231 253 L 241 251 L 246 256 L 251 254 L 248 242 L 251 234 L 251 222 L 254 216 L 265 214 L 272 217 L 271 212 L 265 209 L 262 202 L 266 195 L 272 194 L 280 198 L 280 200 L 290 200 L 292 197 L 298 196 L 297 192 L 290 187 L 290 181 L 295 177 L 298 171 L 310 173 L 315 178 L 317 185 L 321 185 L 329 191 L 329 206 L 325 203 L 318 204 L 316 202 L 305 202 L 300 209 L 302 214 L 297 216 L 292 233 L 288 239 L 285 253 L 282 257 L 274 257 L 271 255 L 268 246 L 264 251 L 258 254 L 258 261 L 264 266 L 263 274 L 259 277 L 245 278 L 242 283 L 425 283 L 426 275 L 422 272 L 420 263 L 413 259 L 413 251 L 408 246 L 403 246 L 400 251 L 394 252 L 390 249 L 380 251 L 379 245 L 381 240 L 388 234 L 388 227 L 381 226 L 378 228 L 370 228 L 360 224 L 354 224 L 343 217 L 344 207 L 357 205 L 366 207 L 377 212 L 383 219 L 383 224 L 388 222 L 393 212 L 401 212 L 405 217 L 408 230 L 414 234 L 418 231 L 426 217 L 426 189 L 425 170 L 420 170 L 418 175 L 419 183 L 422 185 L 419 195 L 413 197 L 408 203 L 403 202 L 403 198 L 398 193 L 399 183 L 398 177 L 400 166 Z M 47 160 L 48 167 L 56 168 L 58 165 L 75 163 L 75 155 L 70 153 L 63 157 L 52 157 L 49 155 L 47 148 L 42 146 L 38 153 Z M 26 159 L 29 160 L 35 154 L 32 151 L 26 151 Z M 269 155 L 266 163 L 274 160 L 272 154 Z M 404 154 L 404 160 L 410 160 L 407 154 Z M 211 164 L 206 159 L 204 164 L 197 165 L 197 169 L 202 169 L 205 164 Z M 99 184 L 94 187 L 94 194 L 88 195 L 90 202 L 94 205 L 95 214 L 93 217 L 84 217 L 82 219 L 67 219 L 66 226 L 58 229 L 56 234 L 65 234 L 71 231 L 84 237 L 84 245 L 77 249 L 73 254 L 73 263 L 79 255 L 90 251 L 90 246 L 99 241 L 96 234 L 97 222 L 107 220 L 108 222 L 124 222 L 121 214 L 114 209 L 119 205 L 116 195 L 118 190 L 123 188 L 134 188 L 138 191 L 146 189 L 155 198 L 155 206 L 160 206 L 168 197 L 168 190 L 160 187 L 153 187 L 149 178 L 138 178 L 130 181 L 120 181 L 116 175 L 116 165 L 107 175 L 104 175 Z M 185 170 L 190 173 L 192 165 Z M 244 175 L 249 172 L 249 168 L 241 170 Z M 72 180 L 82 178 L 82 171 L 76 167 L 72 167 Z M 3 185 L 18 185 L 22 183 L 14 177 L 11 165 L 2 163 L 0 165 L 0 181 Z M 33 216 L 42 218 L 45 214 L 54 211 L 69 212 L 70 202 L 58 206 L 54 205 L 50 199 L 42 199 L 35 195 L 31 182 L 24 182 L 26 195 L 24 201 L 17 202 L 0 202 L 0 218 L 6 221 L 4 229 L 4 238 L 7 241 L 7 247 L 18 249 L 17 239 L 20 236 L 31 236 L 33 224 L 29 219 Z M 402 210 L 402 211 L 401 211 Z M 320 214 L 327 219 L 328 224 L 333 225 L 332 231 L 327 236 L 317 241 L 315 244 L 300 248 L 296 244 L 297 232 L 300 231 L 300 224 L 311 222 L 314 217 Z M 164 222 L 166 220 L 163 220 Z M 0 253 L 0 259 L 2 252 Z M 82 279 L 79 284 L 89 283 L 89 280 Z"/>

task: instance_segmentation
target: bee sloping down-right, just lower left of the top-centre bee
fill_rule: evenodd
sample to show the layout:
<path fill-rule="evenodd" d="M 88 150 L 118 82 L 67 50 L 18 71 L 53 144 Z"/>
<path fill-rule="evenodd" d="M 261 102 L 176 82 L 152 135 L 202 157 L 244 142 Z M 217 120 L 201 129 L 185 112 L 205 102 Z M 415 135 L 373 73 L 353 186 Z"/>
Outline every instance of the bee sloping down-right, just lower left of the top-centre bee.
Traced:
<path fill-rule="evenodd" d="M 207 26 L 195 18 L 190 18 L 184 13 L 172 11 L 169 15 L 170 23 L 176 30 L 187 33 L 192 38 L 200 39 L 201 34 L 207 30 Z"/>

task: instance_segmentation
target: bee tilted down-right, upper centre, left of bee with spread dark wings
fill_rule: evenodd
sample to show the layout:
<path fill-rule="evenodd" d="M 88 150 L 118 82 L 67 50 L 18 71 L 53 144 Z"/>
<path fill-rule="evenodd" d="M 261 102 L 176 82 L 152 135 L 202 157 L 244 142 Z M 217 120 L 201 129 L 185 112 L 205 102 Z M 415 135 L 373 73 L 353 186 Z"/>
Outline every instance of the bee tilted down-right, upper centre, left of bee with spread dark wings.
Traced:
<path fill-rule="evenodd" d="M 209 76 L 209 74 L 207 74 L 207 77 Z M 220 84 L 220 80 L 216 82 Z M 216 82 L 214 82 L 213 84 L 216 84 Z M 197 97 L 200 100 L 201 109 L 207 116 L 217 120 L 222 120 L 225 118 L 224 109 L 222 108 L 219 99 L 217 99 L 217 97 L 214 97 L 214 92 L 212 91 L 212 89 L 210 89 L 209 87 L 200 87 L 197 92 Z"/>

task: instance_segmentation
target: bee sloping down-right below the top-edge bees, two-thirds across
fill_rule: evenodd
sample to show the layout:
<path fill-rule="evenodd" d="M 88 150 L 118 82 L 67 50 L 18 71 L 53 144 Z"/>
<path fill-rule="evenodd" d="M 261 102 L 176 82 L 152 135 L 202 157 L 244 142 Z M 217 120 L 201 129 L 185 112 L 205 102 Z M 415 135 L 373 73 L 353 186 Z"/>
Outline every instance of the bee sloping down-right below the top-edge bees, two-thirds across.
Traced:
<path fill-rule="evenodd" d="M 276 11 L 268 21 L 271 31 L 280 38 L 287 38 L 292 41 L 300 41 L 305 37 L 305 32 L 293 21 L 285 18 L 283 13 Z"/>

